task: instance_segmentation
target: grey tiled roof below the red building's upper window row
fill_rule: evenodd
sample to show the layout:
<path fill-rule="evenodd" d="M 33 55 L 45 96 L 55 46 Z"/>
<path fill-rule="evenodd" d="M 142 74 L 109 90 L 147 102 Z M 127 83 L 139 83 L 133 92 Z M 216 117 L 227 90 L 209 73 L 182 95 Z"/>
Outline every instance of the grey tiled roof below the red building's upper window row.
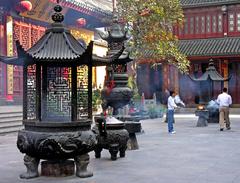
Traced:
<path fill-rule="evenodd" d="M 240 37 L 180 40 L 179 49 L 187 56 L 240 55 Z"/>

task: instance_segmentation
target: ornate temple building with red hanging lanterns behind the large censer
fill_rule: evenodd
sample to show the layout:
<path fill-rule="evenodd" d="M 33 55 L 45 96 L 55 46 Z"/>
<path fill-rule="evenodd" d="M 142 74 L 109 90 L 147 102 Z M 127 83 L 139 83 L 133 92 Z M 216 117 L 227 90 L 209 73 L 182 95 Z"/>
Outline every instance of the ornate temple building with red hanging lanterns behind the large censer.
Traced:
<path fill-rule="evenodd" d="M 25 50 L 34 45 L 52 23 L 56 3 L 57 0 L 1 0 L 0 55 L 16 55 L 16 40 Z M 112 18 L 112 2 L 108 0 L 61 0 L 60 5 L 63 7 L 64 24 L 77 40 L 86 44 L 95 39 L 96 28 L 109 25 Z M 104 56 L 106 52 L 106 43 L 96 41 L 94 53 Z M 96 87 L 103 83 L 104 76 L 97 79 L 97 72 L 102 70 L 100 67 L 93 69 L 93 84 Z M 22 102 L 22 75 L 21 66 L 7 66 L 0 62 L 0 105 Z"/>

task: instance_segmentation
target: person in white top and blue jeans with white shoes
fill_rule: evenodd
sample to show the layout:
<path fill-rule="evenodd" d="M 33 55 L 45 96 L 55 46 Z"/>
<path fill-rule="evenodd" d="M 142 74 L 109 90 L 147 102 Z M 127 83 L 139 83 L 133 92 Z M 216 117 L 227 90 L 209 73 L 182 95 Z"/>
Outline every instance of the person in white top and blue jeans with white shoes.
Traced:
<path fill-rule="evenodd" d="M 174 109 L 177 108 L 177 105 L 174 101 L 175 92 L 170 91 L 170 96 L 168 97 L 168 103 L 167 103 L 167 122 L 168 122 L 168 132 L 171 134 L 176 133 L 173 129 L 173 122 L 174 122 Z"/>

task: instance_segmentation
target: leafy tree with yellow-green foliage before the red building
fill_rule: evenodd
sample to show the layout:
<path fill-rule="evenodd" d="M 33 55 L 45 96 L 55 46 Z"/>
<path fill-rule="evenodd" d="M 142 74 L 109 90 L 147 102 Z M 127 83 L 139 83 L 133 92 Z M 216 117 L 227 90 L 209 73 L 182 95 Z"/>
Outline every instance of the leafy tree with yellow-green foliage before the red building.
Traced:
<path fill-rule="evenodd" d="M 118 0 L 117 10 L 131 31 L 135 58 L 152 64 L 165 60 L 188 72 L 189 61 L 173 34 L 173 26 L 181 26 L 184 19 L 179 0 Z"/>

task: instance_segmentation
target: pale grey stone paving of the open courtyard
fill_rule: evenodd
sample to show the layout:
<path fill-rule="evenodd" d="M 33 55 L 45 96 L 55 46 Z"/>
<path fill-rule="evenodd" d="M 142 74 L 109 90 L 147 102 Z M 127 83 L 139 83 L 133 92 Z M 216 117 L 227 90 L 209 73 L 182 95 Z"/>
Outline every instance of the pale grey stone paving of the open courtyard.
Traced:
<path fill-rule="evenodd" d="M 223 132 L 218 124 L 196 127 L 196 122 L 193 115 L 178 115 L 177 133 L 170 135 L 162 119 L 142 121 L 139 150 L 127 151 L 117 161 L 111 161 L 106 150 L 101 159 L 91 152 L 94 176 L 85 179 L 19 179 L 26 169 L 16 147 L 17 134 L 0 136 L 0 183 L 239 183 L 240 116 L 232 116 L 232 130 Z"/>

